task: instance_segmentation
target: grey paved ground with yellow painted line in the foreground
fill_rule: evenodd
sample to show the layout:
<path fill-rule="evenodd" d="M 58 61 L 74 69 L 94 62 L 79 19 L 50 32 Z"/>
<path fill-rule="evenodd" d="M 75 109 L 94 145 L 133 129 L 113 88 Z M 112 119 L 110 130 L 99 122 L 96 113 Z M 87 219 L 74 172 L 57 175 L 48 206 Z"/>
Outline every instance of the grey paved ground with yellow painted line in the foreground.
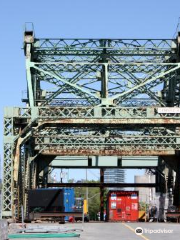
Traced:
<path fill-rule="evenodd" d="M 65 224 L 65 225 L 58 225 L 58 226 L 62 228 L 67 227 L 67 228 L 83 229 L 83 232 L 81 232 L 81 237 L 80 237 L 80 239 L 82 240 L 102 240 L 102 239 L 103 240 L 141 240 L 141 239 L 179 240 L 180 239 L 180 223 L 179 224 L 178 223 L 84 223 L 83 225 L 81 223 L 77 223 L 77 224 Z M 136 235 L 134 230 L 137 227 L 141 227 L 143 229 L 142 235 Z M 153 233 L 152 231 L 155 231 L 155 232 Z M 76 238 L 71 238 L 71 239 L 76 239 Z M 50 239 L 47 239 L 47 240 L 50 240 Z"/>

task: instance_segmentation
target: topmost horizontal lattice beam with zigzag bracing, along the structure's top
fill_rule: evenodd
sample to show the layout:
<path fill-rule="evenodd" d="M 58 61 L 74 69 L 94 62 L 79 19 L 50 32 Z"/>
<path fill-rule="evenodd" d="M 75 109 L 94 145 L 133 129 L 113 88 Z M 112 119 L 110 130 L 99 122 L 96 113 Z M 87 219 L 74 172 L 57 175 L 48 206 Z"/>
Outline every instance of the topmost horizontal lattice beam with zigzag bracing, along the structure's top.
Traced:
<path fill-rule="evenodd" d="M 29 36 L 28 36 L 29 37 Z M 177 47 L 175 39 L 52 39 L 25 38 L 25 43 L 34 43 L 38 57 L 53 55 L 169 55 Z"/>

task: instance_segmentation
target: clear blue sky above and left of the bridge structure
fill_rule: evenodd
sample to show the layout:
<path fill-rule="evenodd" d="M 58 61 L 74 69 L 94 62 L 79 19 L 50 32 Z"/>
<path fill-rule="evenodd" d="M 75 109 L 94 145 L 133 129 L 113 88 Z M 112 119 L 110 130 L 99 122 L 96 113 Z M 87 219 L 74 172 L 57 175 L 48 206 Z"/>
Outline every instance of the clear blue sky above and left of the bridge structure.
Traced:
<path fill-rule="evenodd" d="M 179 0 L 2 0 L 1 156 L 3 108 L 23 106 L 21 92 L 26 89 L 26 77 L 21 47 L 25 22 L 34 23 L 37 37 L 172 38 L 179 17 Z"/>

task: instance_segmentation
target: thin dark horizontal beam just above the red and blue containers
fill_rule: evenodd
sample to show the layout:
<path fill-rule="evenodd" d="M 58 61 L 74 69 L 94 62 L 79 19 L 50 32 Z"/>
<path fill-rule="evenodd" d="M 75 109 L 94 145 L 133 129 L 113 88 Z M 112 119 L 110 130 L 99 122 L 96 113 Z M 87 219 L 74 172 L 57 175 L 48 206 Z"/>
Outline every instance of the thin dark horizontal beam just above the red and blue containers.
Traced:
<path fill-rule="evenodd" d="M 156 187 L 155 183 L 48 183 L 48 187 Z"/>

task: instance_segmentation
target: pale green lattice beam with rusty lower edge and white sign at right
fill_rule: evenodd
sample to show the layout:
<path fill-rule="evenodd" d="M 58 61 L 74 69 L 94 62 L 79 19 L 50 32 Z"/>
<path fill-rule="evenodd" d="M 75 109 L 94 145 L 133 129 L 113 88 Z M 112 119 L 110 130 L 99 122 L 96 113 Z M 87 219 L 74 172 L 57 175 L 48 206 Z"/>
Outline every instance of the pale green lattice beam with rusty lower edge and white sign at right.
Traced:
<path fill-rule="evenodd" d="M 109 123 L 129 124 L 158 123 L 179 124 L 180 110 L 177 107 L 33 107 L 33 108 L 5 108 L 5 118 L 14 119 L 33 118 L 38 121 L 55 121 L 54 123 Z M 59 120 L 60 119 L 60 120 Z M 139 121 L 142 122 L 139 122 Z"/>

